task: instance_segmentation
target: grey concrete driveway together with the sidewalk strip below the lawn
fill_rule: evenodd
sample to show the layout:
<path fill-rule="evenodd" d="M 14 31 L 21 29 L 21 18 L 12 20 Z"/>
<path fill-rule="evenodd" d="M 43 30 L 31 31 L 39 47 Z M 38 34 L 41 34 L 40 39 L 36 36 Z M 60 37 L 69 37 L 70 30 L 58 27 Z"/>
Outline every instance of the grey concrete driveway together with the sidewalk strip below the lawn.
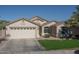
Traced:
<path fill-rule="evenodd" d="M 0 44 L 0 54 L 74 54 L 74 51 L 45 51 L 36 39 L 12 39 Z"/>

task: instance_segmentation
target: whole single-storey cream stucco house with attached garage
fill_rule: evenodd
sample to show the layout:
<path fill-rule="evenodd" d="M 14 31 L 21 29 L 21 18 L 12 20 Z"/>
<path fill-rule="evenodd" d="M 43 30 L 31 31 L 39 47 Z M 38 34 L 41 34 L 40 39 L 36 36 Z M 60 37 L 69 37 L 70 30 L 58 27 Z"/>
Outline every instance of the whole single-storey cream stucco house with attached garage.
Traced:
<path fill-rule="evenodd" d="M 40 38 L 49 33 L 50 36 L 58 37 L 58 30 L 64 26 L 56 21 L 49 22 L 35 16 L 31 20 L 21 18 L 6 25 L 7 39 Z"/>

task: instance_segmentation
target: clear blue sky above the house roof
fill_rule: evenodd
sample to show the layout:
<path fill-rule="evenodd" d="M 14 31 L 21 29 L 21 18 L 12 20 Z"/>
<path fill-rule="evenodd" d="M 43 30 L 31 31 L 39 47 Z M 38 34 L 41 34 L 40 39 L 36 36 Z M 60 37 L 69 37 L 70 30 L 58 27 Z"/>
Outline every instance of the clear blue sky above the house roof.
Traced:
<path fill-rule="evenodd" d="M 73 11 L 73 5 L 0 5 L 0 19 L 31 19 L 40 16 L 47 20 L 64 21 L 70 18 Z"/>

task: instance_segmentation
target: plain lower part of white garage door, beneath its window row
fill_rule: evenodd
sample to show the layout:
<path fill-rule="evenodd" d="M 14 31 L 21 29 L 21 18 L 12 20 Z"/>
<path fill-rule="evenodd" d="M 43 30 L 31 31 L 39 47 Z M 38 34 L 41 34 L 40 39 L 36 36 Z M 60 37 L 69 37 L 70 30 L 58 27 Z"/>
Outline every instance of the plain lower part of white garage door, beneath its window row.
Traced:
<path fill-rule="evenodd" d="M 11 30 L 10 38 L 35 38 L 35 30 Z"/>

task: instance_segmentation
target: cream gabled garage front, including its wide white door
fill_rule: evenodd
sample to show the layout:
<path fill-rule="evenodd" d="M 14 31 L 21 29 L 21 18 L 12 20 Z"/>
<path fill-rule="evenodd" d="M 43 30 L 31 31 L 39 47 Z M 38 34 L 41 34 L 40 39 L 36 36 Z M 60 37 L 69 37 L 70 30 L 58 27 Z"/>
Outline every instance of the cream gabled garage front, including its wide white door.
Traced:
<path fill-rule="evenodd" d="M 26 20 L 19 20 L 6 26 L 6 28 L 8 39 L 39 38 L 39 26 Z"/>

